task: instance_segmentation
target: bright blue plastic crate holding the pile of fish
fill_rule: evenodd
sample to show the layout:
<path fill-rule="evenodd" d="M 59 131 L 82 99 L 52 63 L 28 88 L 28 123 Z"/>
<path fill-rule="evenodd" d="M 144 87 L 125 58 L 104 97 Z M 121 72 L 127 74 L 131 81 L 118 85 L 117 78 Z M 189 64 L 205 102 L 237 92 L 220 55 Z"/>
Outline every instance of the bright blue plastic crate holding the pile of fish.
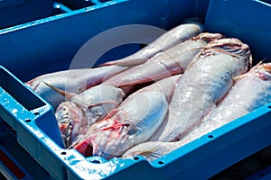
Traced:
<path fill-rule="evenodd" d="M 74 2 L 54 2 L 60 14 L 46 14 L 46 18 L 29 23 L 17 22 L 21 24 L 0 31 L 0 116 L 52 178 L 206 179 L 271 145 L 271 139 L 266 138 L 271 130 L 271 104 L 266 104 L 210 132 L 213 138 L 208 134 L 152 162 L 140 156 L 108 161 L 85 158 L 74 149 L 64 149 L 50 104 L 21 80 L 68 68 L 79 48 L 99 32 L 136 23 L 168 30 L 196 16 L 205 19 L 207 31 L 219 31 L 247 42 L 255 62 L 271 58 L 271 20 L 266 18 L 271 9 L 270 4 L 261 1 L 159 0 L 154 4 L 143 0 L 93 0 L 93 5 L 86 7 Z M 33 17 L 35 14 L 39 12 Z M 126 56 L 138 48 L 133 45 L 113 49 L 100 61 Z M 91 57 L 83 58 L 89 67 L 96 63 Z"/>

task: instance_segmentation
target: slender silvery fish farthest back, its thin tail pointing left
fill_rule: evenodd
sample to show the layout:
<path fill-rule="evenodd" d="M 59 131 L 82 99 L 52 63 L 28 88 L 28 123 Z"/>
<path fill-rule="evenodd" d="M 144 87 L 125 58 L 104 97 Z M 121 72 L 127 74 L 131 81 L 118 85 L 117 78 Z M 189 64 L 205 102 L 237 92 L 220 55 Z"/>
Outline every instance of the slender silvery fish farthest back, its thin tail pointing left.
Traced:
<path fill-rule="evenodd" d="M 203 26 L 200 23 L 183 23 L 172 30 L 165 32 L 162 36 L 148 44 L 144 49 L 140 49 L 126 58 L 106 62 L 101 66 L 118 65 L 129 67 L 145 63 L 145 61 L 152 58 L 158 52 L 169 49 L 182 41 L 189 40 L 192 37 L 197 36 L 201 31 L 203 31 Z"/>

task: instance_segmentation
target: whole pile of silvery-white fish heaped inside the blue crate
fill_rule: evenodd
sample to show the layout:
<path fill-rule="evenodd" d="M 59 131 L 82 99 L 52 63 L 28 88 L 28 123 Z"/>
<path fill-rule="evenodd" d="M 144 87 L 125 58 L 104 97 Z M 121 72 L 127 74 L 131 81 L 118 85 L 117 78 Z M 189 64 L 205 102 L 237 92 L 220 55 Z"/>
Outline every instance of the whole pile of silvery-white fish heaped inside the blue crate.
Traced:
<path fill-rule="evenodd" d="M 55 109 L 66 148 L 154 160 L 271 102 L 271 64 L 251 67 L 247 44 L 202 27 L 183 23 L 126 58 L 26 85 Z"/>

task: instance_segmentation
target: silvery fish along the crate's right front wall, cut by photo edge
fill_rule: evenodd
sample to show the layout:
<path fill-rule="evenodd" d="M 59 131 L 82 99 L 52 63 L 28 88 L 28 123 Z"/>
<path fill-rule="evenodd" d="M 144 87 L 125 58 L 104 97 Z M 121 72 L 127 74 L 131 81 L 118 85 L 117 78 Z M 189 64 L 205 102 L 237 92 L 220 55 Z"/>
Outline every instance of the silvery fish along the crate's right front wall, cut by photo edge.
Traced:
<path fill-rule="evenodd" d="M 248 73 L 238 76 L 237 79 L 216 110 L 199 128 L 183 138 L 182 144 L 198 139 L 229 121 L 271 102 L 271 63 L 252 67 Z"/>

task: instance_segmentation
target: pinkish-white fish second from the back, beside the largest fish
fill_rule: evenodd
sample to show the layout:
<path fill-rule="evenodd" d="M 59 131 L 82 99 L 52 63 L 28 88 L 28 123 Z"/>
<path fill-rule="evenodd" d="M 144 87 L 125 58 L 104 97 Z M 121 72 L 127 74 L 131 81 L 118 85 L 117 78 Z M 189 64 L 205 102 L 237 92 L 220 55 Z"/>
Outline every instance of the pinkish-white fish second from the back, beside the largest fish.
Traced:
<path fill-rule="evenodd" d="M 130 67 L 115 76 L 111 76 L 103 84 L 115 86 L 136 85 L 182 74 L 201 48 L 205 47 L 211 40 L 218 40 L 221 37 L 220 33 L 201 33 L 197 37 L 154 55 L 144 64 Z"/>

